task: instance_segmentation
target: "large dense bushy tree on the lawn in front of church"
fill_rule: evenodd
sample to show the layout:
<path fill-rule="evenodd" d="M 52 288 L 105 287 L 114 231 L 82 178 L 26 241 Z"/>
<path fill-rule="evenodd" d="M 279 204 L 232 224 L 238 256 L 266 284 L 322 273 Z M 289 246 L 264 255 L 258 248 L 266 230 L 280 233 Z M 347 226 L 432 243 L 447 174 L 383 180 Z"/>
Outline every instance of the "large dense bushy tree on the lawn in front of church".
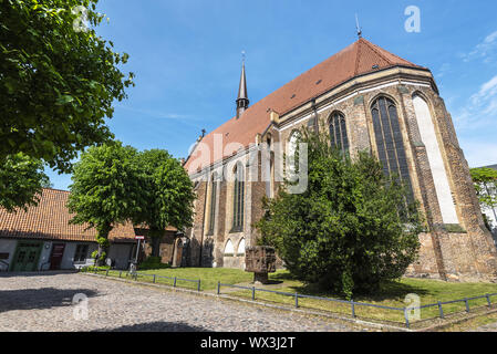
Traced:
<path fill-rule="evenodd" d="M 328 134 L 301 133 L 308 188 L 289 194 L 287 180 L 275 199 L 265 198 L 260 244 L 273 246 L 298 279 L 348 298 L 402 277 L 417 257 L 423 226 L 407 188 L 369 154 L 352 162 Z"/>

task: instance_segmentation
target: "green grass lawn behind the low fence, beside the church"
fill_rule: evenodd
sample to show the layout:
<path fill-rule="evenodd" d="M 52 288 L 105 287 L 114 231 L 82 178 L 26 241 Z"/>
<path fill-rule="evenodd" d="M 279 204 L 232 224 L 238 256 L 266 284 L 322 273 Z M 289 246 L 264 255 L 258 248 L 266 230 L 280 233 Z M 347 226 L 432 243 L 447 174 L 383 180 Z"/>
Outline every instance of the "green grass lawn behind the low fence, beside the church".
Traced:
<path fill-rule="evenodd" d="M 105 270 L 100 271 L 100 274 L 105 274 Z M 123 278 L 131 279 L 127 272 L 121 272 Z M 177 277 L 176 285 L 179 288 L 197 290 L 197 283 L 185 282 L 179 279 L 200 279 L 200 290 L 203 291 L 215 291 L 217 289 L 217 283 L 220 281 L 224 284 L 240 284 L 245 283 L 247 287 L 251 287 L 249 283 L 253 280 L 253 274 L 245 272 L 238 269 L 225 269 L 225 268 L 177 268 L 177 269 L 158 269 L 158 270 L 146 270 L 138 272 L 138 281 L 152 282 L 153 277 L 147 277 L 145 274 L 156 274 L 161 277 Z M 118 277 L 120 271 L 111 270 L 108 272 L 110 277 Z M 288 271 L 278 271 L 276 273 L 269 274 L 269 280 L 272 281 L 277 287 L 270 288 L 271 290 L 288 292 L 294 294 L 296 292 L 304 295 L 322 296 L 344 300 L 336 293 L 331 291 L 323 291 L 319 289 L 315 284 L 307 284 L 291 277 Z M 164 283 L 167 285 L 173 285 L 173 279 L 156 278 L 156 283 Z M 256 287 L 260 288 L 260 287 Z M 250 290 L 228 290 L 227 288 L 221 289 L 221 293 L 229 295 L 240 296 L 244 299 L 251 299 L 252 294 Z M 384 283 L 380 291 L 373 295 L 362 295 L 355 296 L 355 302 L 371 303 L 391 308 L 405 308 L 408 303 L 405 303 L 405 298 L 407 294 L 416 294 L 420 296 L 421 305 L 437 303 L 438 301 L 453 301 L 464 298 L 473 298 L 485 295 L 487 293 L 497 293 L 497 284 L 493 283 L 447 283 L 436 280 L 425 280 L 425 279 L 401 279 L 398 281 L 391 281 Z M 294 298 L 288 295 L 281 295 L 276 293 L 256 292 L 256 300 L 272 302 L 277 304 L 286 304 L 293 306 Z M 493 303 L 497 304 L 497 296 L 491 298 Z M 486 299 L 470 300 L 470 309 L 487 305 Z M 330 302 L 325 300 L 315 299 L 302 299 L 299 298 L 299 306 L 304 309 L 323 310 L 333 313 L 351 315 L 351 305 Z M 449 316 L 451 314 L 460 313 L 466 311 L 466 305 L 464 302 L 444 304 L 444 314 Z M 404 323 L 404 314 L 402 311 L 393 311 L 385 309 L 376 309 L 370 306 L 355 305 L 355 314 L 358 317 L 379 320 L 379 321 L 392 321 L 396 323 Z M 429 320 L 438 317 L 438 306 L 422 309 L 421 319 Z"/>

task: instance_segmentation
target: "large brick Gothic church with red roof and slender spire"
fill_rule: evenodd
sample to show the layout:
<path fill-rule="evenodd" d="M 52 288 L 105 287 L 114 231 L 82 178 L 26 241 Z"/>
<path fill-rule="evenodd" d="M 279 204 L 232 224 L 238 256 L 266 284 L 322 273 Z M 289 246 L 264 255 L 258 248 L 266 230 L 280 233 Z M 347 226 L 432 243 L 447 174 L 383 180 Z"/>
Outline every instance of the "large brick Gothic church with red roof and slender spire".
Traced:
<path fill-rule="evenodd" d="M 428 231 L 407 275 L 497 281 L 497 250 L 433 74 L 362 38 L 253 105 L 244 64 L 237 115 L 185 163 L 197 194 L 190 266 L 244 268 L 261 199 L 280 185 L 277 146 L 288 153 L 302 126 L 325 127 L 352 158 L 367 150 L 411 185 Z"/>

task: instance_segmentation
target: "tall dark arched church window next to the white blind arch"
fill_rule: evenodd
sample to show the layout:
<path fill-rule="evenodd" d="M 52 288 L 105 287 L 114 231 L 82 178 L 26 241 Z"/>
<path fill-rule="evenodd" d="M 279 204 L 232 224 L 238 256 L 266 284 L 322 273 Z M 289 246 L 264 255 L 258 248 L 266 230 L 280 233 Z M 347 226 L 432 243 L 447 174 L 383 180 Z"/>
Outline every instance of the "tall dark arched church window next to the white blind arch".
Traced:
<path fill-rule="evenodd" d="M 377 155 L 385 175 L 396 175 L 410 187 L 412 185 L 405 155 L 404 140 L 395 103 L 386 97 L 379 97 L 371 106 Z"/>

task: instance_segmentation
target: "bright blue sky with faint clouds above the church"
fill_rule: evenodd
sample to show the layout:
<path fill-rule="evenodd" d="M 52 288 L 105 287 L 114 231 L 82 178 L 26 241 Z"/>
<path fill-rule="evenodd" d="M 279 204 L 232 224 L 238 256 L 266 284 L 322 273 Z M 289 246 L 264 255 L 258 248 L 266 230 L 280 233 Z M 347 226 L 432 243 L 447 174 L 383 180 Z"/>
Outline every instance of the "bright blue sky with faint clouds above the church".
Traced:
<path fill-rule="evenodd" d="M 421 32 L 406 32 L 408 6 Z M 235 114 L 240 52 L 255 103 L 356 40 L 358 13 L 371 42 L 435 75 L 472 167 L 497 164 L 497 1 L 101 0 L 97 29 L 123 71 L 136 74 L 108 125 L 138 149 L 186 157 L 203 128 Z M 70 176 L 49 171 L 54 188 Z"/>

